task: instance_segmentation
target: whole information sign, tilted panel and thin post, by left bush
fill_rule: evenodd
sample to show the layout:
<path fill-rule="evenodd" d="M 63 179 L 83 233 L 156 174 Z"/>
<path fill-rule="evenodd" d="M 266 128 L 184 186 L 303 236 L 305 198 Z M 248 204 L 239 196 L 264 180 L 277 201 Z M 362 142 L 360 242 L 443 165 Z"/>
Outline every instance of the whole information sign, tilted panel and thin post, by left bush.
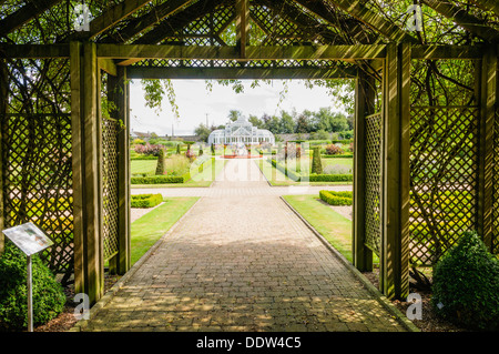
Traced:
<path fill-rule="evenodd" d="M 50 247 L 53 242 L 33 223 L 3 230 L 2 233 L 12 241 L 28 257 L 27 290 L 28 290 L 28 332 L 33 332 L 33 281 L 31 256 Z"/>

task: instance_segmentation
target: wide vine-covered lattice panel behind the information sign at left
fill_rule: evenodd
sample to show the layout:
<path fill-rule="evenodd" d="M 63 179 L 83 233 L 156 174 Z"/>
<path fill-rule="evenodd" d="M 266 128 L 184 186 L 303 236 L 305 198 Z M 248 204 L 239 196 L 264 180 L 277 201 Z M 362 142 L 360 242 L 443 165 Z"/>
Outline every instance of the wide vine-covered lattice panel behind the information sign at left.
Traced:
<path fill-rule="evenodd" d="M 6 227 L 33 222 L 54 242 L 40 255 L 54 273 L 73 272 L 73 195 L 69 114 L 2 119 Z"/>

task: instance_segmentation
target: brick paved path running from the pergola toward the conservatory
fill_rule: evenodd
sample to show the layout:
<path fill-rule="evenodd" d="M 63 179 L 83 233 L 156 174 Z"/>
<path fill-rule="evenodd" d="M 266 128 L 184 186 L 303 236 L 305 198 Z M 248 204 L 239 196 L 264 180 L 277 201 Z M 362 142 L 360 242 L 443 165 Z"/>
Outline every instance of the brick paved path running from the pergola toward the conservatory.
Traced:
<path fill-rule="evenodd" d="M 83 330 L 404 331 L 278 196 L 228 193 L 271 189 L 254 162 L 227 166 L 212 188 L 226 193 L 202 198 Z"/>

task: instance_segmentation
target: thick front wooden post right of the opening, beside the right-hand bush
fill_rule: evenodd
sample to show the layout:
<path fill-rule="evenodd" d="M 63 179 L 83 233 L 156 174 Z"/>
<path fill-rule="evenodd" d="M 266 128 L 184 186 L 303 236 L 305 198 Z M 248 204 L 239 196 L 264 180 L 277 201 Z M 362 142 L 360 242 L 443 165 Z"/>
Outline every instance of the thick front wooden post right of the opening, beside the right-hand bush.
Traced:
<path fill-rule="evenodd" d="M 384 70 L 381 139 L 380 290 L 409 293 L 409 84 L 410 44 L 388 44 Z"/>

